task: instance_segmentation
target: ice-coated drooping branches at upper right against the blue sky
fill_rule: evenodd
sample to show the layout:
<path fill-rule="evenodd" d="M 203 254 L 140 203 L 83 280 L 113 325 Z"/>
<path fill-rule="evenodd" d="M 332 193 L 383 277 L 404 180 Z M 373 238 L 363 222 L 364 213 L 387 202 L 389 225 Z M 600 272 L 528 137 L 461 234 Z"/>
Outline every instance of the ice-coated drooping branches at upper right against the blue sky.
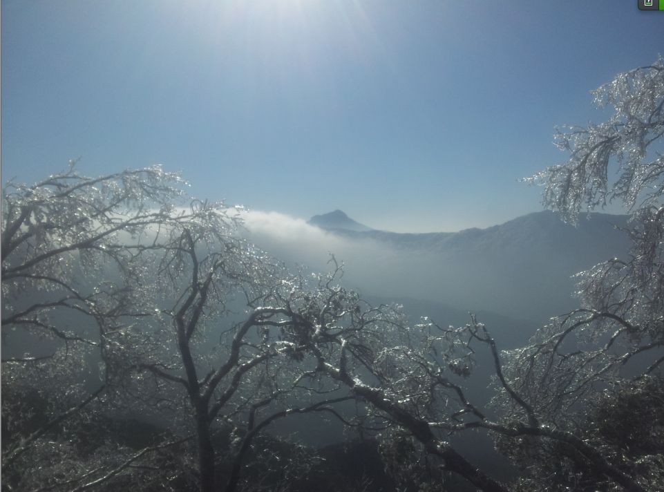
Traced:
<path fill-rule="evenodd" d="M 576 222 L 583 209 L 615 200 L 630 211 L 661 205 L 664 59 L 619 74 L 593 95 L 612 114 L 600 124 L 557 131 L 556 145 L 569 160 L 529 178 L 544 187 L 544 206 Z"/>

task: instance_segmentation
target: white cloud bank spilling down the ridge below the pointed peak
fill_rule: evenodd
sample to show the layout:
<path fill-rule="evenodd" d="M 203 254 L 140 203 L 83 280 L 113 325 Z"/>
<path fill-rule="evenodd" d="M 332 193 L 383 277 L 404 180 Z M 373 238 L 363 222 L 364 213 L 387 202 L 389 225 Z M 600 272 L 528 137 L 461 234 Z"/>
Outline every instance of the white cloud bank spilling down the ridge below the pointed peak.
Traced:
<path fill-rule="evenodd" d="M 327 271 L 330 254 L 344 264 L 344 283 L 383 299 L 429 299 L 468 305 L 466 272 L 439 254 L 395 247 L 359 235 L 343 236 L 274 211 L 243 211 L 247 239 L 287 263 Z"/>

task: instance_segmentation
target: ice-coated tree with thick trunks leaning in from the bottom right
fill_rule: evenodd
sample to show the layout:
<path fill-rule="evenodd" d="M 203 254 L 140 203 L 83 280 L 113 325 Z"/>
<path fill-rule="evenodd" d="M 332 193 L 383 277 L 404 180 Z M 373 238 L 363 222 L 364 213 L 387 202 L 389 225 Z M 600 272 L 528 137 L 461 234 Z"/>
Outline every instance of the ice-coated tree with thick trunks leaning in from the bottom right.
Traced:
<path fill-rule="evenodd" d="M 383 444 L 389 446 L 388 436 L 396 431 L 401 442 L 412 439 L 408 453 L 419 449 L 440 471 L 484 491 L 506 491 L 505 484 L 477 469 L 449 443 L 450 435 L 482 430 L 502 442 L 553 443 L 562 449 L 560 456 L 576 460 L 586 473 L 625 490 L 647 490 L 601 446 L 554 425 L 533 407 L 519 381 L 504 372 L 497 343 L 482 323 L 473 319 L 463 328 L 442 328 L 425 320 L 410 326 L 398 309 L 366 305 L 357 294 L 330 283 L 333 278 L 315 296 L 307 294 L 311 304 L 307 315 L 298 318 L 298 339 L 314 359 L 316 377 L 336 381 L 366 404 L 363 425 L 390 430 L 383 433 Z M 495 416 L 466 394 L 463 379 L 478 357 L 493 363 L 497 389 L 511 413 Z M 444 482 L 444 474 L 435 480 Z"/>

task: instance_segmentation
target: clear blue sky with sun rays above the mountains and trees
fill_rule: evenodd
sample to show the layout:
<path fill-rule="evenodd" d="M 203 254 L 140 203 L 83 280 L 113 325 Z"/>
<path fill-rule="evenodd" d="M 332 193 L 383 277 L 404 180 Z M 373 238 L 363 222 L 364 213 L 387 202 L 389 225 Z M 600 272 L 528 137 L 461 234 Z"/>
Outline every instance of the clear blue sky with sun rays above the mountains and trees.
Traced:
<path fill-rule="evenodd" d="M 160 163 L 201 198 L 394 231 L 540 209 L 556 124 L 664 55 L 636 0 L 3 0 L 2 176 Z"/>

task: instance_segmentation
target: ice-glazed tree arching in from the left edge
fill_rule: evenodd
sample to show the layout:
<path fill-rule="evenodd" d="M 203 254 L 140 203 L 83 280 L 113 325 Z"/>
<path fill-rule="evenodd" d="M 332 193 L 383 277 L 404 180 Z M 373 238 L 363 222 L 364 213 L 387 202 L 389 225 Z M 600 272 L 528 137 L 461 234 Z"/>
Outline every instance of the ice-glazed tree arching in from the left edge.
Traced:
<path fill-rule="evenodd" d="M 3 189 L 2 444 L 8 489 L 35 484 L 39 473 L 26 474 L 26 455 L 34 458 L 49 446 L 50 453 L 70 453 L 47 437 L 86 421 L 115 390 L 117 375 L 108 363 L 114 348 L 151 314 L 133 287 L 142 270 L 125 246 L 166 221 L 198 220 L 196 214 L 173 217 L 181 187 L 178 175 L 159 167 L 88 178 L 70 162 L 65 173 Z M 127 459 L 130 454 L 127 449 Z M 112 464 L 93 470 L 104 475 Z M 90 469 L 86 477 L 99 478 Z M 53 480 L 56 486 L 55 475 Z"/>

